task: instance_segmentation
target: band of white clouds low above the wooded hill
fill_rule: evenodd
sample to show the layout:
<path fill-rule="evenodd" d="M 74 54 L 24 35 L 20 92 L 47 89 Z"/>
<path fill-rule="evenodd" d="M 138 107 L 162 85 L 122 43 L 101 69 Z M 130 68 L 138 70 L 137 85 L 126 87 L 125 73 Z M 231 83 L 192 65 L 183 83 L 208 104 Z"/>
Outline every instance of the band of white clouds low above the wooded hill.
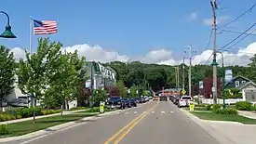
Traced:
<path fill-rule="evenodd" d="M 78 55 L 80 57 L 85 56 L 87 60 L 96 60 L 101 62 L 109 62 L 114 60 L 119 60 L 123 62 L 140 60 L 143 63 L 157 63 L 157 64 L 167 64 L 167 65 L 176 65 L 182 63 L 182 58 L 174 59 L 172 51 L 165 48 L 154 49 L 143 56 L 138 57 L 128 57 L 127 55 L 121 55 L 116 51 L 108 51 L 101 46 L 89 46 L 87 44 L 84 45 L 75 45 L 75 46 L 67 46 L 63 47 L 66 48 L 67 52 L 73 52 L 74 50 L 78 51 Z M 62 49 L 62 50 L 63 50 Z M 11 49 L 14 53 L 15 59 L 24 59 L 25 53 L 24 50 L 15 47 Z M 256 53 L 256 42 L 250 44 L 246 48 L 240 48 L 236 53 L 229 53 L 223 52 L 224 56 L 224 64 L 225 65 L 240 65 L 240 66 L 247 66 L 249 63 L 249 58 Z M 193 57 L 192 64 L 205 64 L 206 61 L 212 54 L 212 50 L 205 50 L 201 54 L 197 54 Z M 182 55 L 181 55 L 182 57 Z M 209 59 L 207 64 L 210 64 L 212 58 Z M 221 55 L 217 56 L 217 61 L 219 64 L 222 64 L 222 57 Z M 185 59 L 185 64 L 189 64 L 189 60 Z"/>

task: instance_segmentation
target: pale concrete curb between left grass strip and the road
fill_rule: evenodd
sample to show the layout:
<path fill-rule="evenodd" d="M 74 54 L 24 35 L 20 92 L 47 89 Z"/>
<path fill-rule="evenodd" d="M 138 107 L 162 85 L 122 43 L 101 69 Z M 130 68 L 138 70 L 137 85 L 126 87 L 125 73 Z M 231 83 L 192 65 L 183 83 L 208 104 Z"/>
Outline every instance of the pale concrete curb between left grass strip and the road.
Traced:
<path fill-rule="evenodd" d="M 64 123 L 64 124 L 58 124 L 58 125 L 55 125 L 55 126 L 52 126 L 52 127 L 48 127 L 44 130 L 35 131 L 33 133 L 25 134 L 25 135 L 18 136 L 18 137 L 0 138 L 0 142 L 9 142 L 9 141 L 15 141 L 15 140 L 20 141 L 20 140 L 29 139 L 29 138 L 32 138 L 32 139 L 30 139 L 28 141 L 33 141 L 35 138 L 38 138 L 38 137 L 46 137 L 47 135 L 53 134 L 54 132 L 66 130 L 66 129 L 78 126 L 80 124 L 87 124 L 88 123 L 88 122 L 83 122 L 83 121 L 97 120 L 97 119 L 102 118 L 101 116 L 112 115 L 112 114 L 118 113 L 120 111 L 128 111 L 128 110 L 132 110 L 132 109 L 135 109 L 135 108 L 140 108 L 141 106 L 143 106 L 147 103 L 149 103 L 149 102 L 142 103 L 137 107 L 133 107 L 133 108 L 125 109 L 125 110 L 108 111 L 108 112 L 97 114 L 95 116 L 88 116 L 88 117 L 85 117 L 81 120 L 77 120 L 77 121 L 74 121 L 74 122 L 68 122 L 68 123 Z M 75 111 L 75 112 L 77 112 L 77 111 Z M 60 113 L 58 113 L 58 114 L 60 114 Z M 79 121 L 81 121 L 81 122 L 79 122 Z"/>

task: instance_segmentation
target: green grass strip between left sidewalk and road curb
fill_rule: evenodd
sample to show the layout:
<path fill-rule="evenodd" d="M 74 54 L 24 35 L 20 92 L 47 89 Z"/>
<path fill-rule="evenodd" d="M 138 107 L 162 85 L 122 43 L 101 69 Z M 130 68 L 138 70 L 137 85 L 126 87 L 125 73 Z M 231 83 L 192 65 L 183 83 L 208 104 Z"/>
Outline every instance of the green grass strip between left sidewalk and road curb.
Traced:
<path fill-rule="evenodd" d="M 4 135 L 0 137 L 15 137 L 20 135 L 25 135 L 38 130 L 46 129 L 47 127 L 76 121 L 92 115 L 96 115 L 96 114 L 80 113 L 80 114 L 63 115 L 63 117 L 61 117 L 61 115 L 57 115 L 57 116 L 51 116 L 47 118 L 40 118 L 36 120 L 36 124 L 33 124 L 33 121 L 25 121 L 25 122 L 20 122 L 15 124 L 8 124 L 8 127 L 11 129 L 12 133 L 10 135 Z"/>

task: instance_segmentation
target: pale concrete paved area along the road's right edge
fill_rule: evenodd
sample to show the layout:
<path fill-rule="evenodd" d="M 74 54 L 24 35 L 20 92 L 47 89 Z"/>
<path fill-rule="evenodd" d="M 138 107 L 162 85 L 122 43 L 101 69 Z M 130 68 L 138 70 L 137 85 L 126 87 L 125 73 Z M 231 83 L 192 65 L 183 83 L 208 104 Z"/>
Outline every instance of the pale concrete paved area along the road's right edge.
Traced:
<path fill-rule="evenodd" d="M 196 124 L 215 137 L 221 144 L 255 144 L 256 125 L 236 122 L 201 120 L 189 111 L 181 110 Z"/>

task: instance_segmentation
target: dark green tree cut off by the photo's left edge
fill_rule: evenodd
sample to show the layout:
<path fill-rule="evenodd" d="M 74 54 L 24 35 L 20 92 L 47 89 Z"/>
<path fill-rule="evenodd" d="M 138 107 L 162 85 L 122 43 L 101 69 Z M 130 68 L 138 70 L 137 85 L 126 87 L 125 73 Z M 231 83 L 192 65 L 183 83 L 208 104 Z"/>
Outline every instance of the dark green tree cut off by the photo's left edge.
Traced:
<path fill-rule="evenodd" d="M 13 91 L 15 81 L 15 62 L 13 53 L 7 47 L 0 46 L 0 107 L 7 95 Z M 4 108 L 3 108 L 4 111 Z"/>

